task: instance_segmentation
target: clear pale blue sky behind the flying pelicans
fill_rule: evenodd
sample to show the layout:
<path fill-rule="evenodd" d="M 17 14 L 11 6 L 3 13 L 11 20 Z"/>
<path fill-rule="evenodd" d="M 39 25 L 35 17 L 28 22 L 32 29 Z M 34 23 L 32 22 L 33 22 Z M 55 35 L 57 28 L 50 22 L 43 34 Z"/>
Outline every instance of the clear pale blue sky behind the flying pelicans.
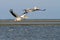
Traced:
<path fill-rule="evenodd" d="M 28 19 L 60 19 L 60 0 L 0 0 L 0 19 L 14 19 L 10 9 L 22 15 L 24 9 L 35 6 L 46 11 L 31 12 Z"/>

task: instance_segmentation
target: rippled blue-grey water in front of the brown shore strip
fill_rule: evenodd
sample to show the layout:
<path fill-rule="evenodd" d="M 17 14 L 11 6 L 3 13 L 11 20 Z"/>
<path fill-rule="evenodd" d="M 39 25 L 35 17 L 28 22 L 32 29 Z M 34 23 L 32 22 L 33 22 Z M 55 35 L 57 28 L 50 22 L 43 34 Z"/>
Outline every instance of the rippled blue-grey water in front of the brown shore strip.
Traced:
<path fill-rule="evenodd" d="M 60 40 L 60 25 L 1 25 L 0 40 Z"/>

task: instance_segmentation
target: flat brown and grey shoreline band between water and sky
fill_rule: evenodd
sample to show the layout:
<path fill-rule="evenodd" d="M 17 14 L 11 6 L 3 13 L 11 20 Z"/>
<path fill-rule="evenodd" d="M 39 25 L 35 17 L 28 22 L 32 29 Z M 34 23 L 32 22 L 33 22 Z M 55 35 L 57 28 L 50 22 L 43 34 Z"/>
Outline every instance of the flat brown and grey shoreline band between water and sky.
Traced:
<path fill-rule="evenodd" d="M 0 20 L 0 25 L 60 25 L 60 19 L 28 19 L 16 22 L 13 19 Z"/>

